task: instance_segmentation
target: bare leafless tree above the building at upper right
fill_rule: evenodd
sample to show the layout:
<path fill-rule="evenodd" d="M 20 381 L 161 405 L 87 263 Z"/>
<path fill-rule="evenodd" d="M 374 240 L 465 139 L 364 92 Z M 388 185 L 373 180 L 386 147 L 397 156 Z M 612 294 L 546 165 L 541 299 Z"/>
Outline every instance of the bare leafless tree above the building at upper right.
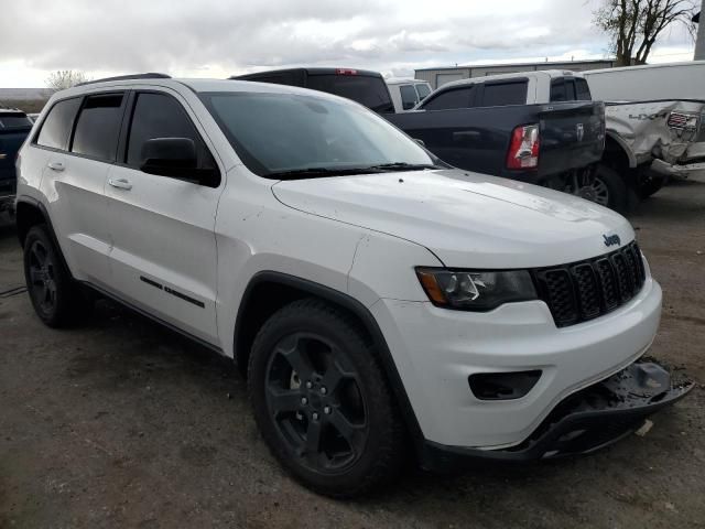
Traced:
<path fill-rule="evenodd" d="M 617 64 L 646 64 L 663 31 L 682 23 L 693 34 L 692 0 L 606 0 L 594 13 L 594 23 L 609 34 Z"/>

